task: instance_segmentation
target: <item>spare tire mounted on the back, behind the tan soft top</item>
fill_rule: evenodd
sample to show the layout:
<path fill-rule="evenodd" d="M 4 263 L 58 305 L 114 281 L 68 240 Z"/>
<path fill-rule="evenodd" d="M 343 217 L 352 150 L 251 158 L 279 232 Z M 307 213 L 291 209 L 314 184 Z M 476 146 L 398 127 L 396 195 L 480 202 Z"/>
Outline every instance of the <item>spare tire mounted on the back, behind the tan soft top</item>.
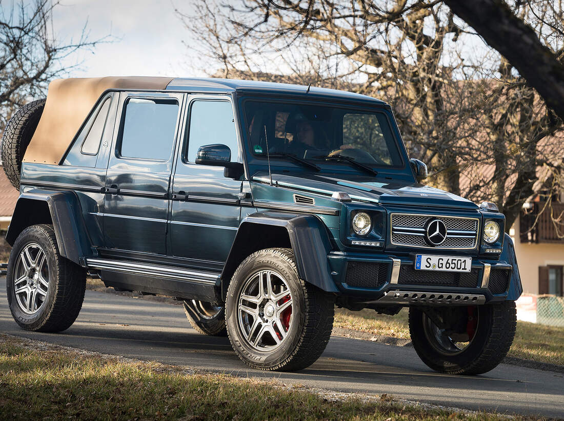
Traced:
<path fill-rule="evenodd" d="M 6 124 L 2 135 L 2 164 L 6 177 L 19 190 L 21 160 L 37 129 L 45 107 L 45 98 L 32 101 L 17 109 Z"/>

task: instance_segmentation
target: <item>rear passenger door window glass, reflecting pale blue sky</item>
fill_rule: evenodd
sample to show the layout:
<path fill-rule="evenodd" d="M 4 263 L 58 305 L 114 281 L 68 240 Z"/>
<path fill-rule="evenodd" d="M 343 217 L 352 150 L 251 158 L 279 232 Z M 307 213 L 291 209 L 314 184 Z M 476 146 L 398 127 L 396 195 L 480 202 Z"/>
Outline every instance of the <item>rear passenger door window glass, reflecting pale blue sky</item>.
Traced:
<path fill-rule="evenodd" d="M 130 98 L 124 109 L 120 157 L 168 160 L 178 120 L 177 100 Z"/>

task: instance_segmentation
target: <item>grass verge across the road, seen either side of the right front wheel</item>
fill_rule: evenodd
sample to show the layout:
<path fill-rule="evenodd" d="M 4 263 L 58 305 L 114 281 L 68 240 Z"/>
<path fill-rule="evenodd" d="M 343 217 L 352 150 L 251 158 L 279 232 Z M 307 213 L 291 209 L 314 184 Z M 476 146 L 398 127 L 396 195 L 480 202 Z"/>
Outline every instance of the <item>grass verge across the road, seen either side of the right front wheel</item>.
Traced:
<path fill-rule="evenodd" d="M 402 309 L 395 316 L 376 314 L 374 310 L 366 309 L 360 312 L 336 309 L 335 326 L 409 339 L 407 314 L 407 309 Z M 564 328 L 517 321 L 515 339 L 508 356 L 564 365 Z"/>

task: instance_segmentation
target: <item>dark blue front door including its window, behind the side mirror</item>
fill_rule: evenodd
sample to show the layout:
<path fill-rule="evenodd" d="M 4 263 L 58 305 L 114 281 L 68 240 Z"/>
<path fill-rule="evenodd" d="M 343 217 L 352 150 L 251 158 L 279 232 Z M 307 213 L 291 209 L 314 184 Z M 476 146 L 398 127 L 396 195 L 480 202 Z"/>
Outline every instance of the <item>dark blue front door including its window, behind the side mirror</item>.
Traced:
<path fill-rule="evenodd" d="M 231 161 L 241 162 L 232 104 L 227 97 L 192 97 L 186 121 L 173 180 L 169 254 L 221 270 L 239 227 L 242 181 L 195 159 L 200 146 L 221 143 L 230 148 Z"/>

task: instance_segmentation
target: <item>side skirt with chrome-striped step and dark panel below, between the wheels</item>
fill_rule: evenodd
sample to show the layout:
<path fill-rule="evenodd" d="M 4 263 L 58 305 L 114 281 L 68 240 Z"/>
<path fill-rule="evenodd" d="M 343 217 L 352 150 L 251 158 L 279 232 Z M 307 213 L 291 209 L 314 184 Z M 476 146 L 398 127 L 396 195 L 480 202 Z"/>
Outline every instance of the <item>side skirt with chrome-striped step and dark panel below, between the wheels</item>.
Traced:
<path fill-rule="evenodd" d="M 103 258 L 88 258 L 86 266 L 98 271 L 107 287 L 221 302 L 219 273 Z"/>

